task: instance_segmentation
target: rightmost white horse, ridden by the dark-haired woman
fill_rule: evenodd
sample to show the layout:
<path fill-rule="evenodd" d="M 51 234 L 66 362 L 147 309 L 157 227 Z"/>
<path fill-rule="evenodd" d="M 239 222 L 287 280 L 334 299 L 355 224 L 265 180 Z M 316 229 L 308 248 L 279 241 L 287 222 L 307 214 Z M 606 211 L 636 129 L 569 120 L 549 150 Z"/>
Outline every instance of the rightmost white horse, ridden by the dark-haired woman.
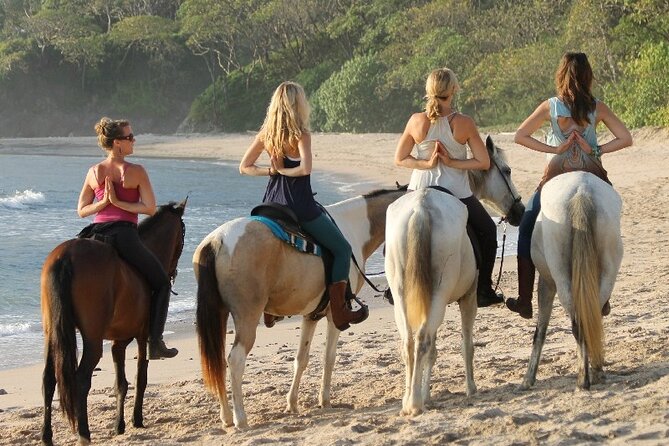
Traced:
<path fill-rule="evenodd" d="M 601 311 L 611 297 L 623 256 L 621 207 L 613 187 L 591 173 L 558 175 L 543 187 L 531 248 L 539 271 L 539 316 L 522 389 L 536 381 L 556 293 L 578 344 L 578 386 L 589 389 L 591 382 L 603 381 Z"/>

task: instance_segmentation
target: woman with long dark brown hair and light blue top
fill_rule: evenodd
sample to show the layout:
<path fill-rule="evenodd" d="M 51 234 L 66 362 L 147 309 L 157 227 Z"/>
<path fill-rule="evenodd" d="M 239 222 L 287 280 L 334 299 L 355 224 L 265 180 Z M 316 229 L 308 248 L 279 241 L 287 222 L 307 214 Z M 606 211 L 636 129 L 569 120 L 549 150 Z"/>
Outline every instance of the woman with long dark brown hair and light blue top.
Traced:
<path fill-rule="evenodd" d="M 572 170 L 586 170 L 609 182 L 601 165 L 601 156 L 632 145 L 625 124 L 592 94 L 592 68 L 584 53 L 565 53 L 555 73 L 557 95 L 542 102 L 520 125 L 514 141 L 529 149 L 551 154 L 539 187 L 530 197 L 518 229 L 518 299 L 506 305 L 525 319 L 532 318 L 534 263 L 530 246 L 534 223 L 541 209 L 541 187 L 556 175 Z M 545 122 L 550 123 L 546 142 L 532 135 Z M 602 122 L 614 138 L 597 144 L 597 125 Z M 610 182 L 609 182 L 610 183 Z M 602 312 L 608 314 L 608 302 Z"/>

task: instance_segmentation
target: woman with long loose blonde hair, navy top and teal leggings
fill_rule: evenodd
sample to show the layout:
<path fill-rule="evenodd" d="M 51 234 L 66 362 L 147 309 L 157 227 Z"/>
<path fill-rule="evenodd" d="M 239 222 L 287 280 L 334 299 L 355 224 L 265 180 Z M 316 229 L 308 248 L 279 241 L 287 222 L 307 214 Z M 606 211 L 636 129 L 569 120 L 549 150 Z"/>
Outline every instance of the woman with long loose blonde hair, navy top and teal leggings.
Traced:
<path fill-rule="evenodd" d="M 345 294 L 351 261 L 351 245 L 337 226 L 317 205 L 311 190 L 311 134 L 309 103 L 304 89 L 294 82 L 283 82 L 272 95 L 267 115 L 258 135 L 246 150 L 239 165 L 244 175 L 268 176 L 263 202 L 288 206 L 300 225 L 334 256 L 328 294 L 332 319 L 339 330 L 367 318 L 367 309 L 352 311 Z M 270 165 L 256 161 L 267 151 Z M 265 325 L 274 325 L 274 317 L 265 314 Z"/>

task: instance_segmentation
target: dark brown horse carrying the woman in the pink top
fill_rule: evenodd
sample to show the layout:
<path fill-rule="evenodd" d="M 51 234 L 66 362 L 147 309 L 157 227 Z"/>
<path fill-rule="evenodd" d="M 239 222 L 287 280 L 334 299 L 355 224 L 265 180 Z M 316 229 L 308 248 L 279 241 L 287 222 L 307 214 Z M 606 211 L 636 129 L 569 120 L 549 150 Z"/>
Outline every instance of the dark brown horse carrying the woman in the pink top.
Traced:
<path fill-rule="evenodd" d="M 139 225 L 139 234 L 173 280 L 184 244 L 182 216 L 186 200 L 161 206 Z M 110 339 L 116 369 L 116 433 L 125 431 L 123 404 L 128 391 L 125 349 L 137 339 L 137 393 L 133 425 L 143 427 L 142 404 L 148 367 L 147 338 L 151 291 L 148 283 L 122 261 L 109 244 L 72 239 L 58 245 L 42 267 L 44 426 L 42 442 L 52 444 L 51 402 L 58 383 L 60 407 L 79 444 L 90 443 L 87 398 L 93 369 L 102 357 L 102 341 Z M 75 329 L 83 353 L 77 367 Z"/>

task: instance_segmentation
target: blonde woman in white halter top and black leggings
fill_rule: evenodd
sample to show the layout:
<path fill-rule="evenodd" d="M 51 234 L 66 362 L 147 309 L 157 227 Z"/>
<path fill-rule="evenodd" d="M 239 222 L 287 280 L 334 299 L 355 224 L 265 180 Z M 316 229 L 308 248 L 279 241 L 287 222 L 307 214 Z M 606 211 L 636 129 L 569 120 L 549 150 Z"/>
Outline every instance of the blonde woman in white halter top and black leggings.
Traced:
<path fill-rule="evenodd" d="M 473 195 L 467 170 L 487 170 L 490 157 L 474 120 L 453 108 L 453 97 L 459 88 L 452 70 L 439 68 L 430 73 L 425 84 L 425 111 L 409 118 L 395 150 L 395 164 L 413 169 L 410 190 L 440 186 L 467 206 L 468 223 L 481 247 L 477 303 L 487 307 L 504 302 L 504 296 L 492 288 L 497 230 Z M 414 149 L 416 156 L 412 155 Z"/>

